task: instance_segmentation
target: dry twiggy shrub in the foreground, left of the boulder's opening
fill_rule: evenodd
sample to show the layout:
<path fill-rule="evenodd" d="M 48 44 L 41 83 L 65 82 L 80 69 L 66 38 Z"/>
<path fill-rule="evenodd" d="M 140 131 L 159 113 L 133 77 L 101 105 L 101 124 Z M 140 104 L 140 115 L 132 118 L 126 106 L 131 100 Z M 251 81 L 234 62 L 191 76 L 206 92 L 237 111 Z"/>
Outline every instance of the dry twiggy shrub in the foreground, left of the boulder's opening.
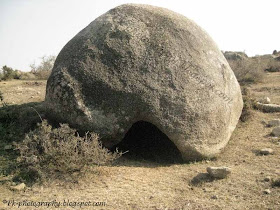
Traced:
<path fill-rule="evenodd" d="M 20 165 L 28 168 L 36 178 L 54 172 L 71 174 L 85 166 L 109 164 L 122 155 L 104 148 L 95 133 L 80 137 L 67 124 L 53 129 L 45 120 L 16 147 L 20 152 Z"/>

